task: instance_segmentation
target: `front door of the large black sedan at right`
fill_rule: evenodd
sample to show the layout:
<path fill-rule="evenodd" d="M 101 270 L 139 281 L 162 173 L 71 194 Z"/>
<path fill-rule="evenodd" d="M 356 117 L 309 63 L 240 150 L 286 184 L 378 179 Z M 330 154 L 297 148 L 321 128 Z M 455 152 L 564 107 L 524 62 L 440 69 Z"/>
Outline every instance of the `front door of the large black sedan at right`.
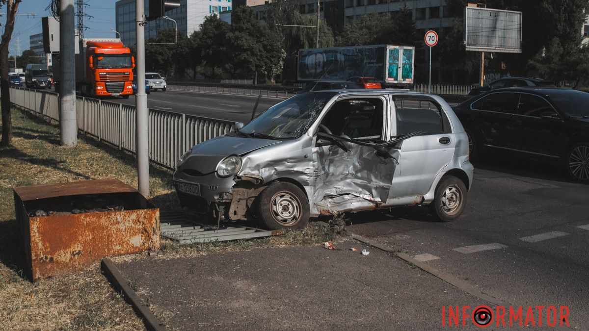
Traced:
<path fill-rule="evenodd" d="M 558 158 L 564 145 L 563 120 L 550 102 L 521 93 L 514 125 L 519 128 L 515 148 L 527 154 Z"/>

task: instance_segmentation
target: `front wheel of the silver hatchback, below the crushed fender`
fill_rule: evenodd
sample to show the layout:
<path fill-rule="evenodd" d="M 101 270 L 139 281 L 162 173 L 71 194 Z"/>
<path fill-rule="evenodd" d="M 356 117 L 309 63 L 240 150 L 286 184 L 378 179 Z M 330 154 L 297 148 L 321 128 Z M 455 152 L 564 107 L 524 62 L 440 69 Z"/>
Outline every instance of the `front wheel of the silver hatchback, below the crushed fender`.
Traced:
<path fill-rule="evenodd" d="M 270 184 L 258 197 L 257 207 L 263 225 L 270 230 L 302 229 L 309 221 L 307 197 L 291 183 Z"/>

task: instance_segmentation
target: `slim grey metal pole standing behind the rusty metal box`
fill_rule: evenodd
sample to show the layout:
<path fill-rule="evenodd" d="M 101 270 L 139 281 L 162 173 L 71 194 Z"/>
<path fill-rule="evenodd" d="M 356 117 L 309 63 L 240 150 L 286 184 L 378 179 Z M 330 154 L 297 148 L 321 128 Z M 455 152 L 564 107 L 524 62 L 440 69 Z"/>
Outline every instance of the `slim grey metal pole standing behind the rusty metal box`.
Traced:
<path fill-rule="evenodd" d="M 62 0 L 63 1 L 63 0 Z M 150 15 L 153 14 L 150 9 Z M 145 18 L 143 0 L 135 0 L 135 40 L 137 58 L 135 69 L 137 82 L 145 81 Z M 137 84 L 135 95 L 135 132 L 137 136 L 137 188 L 144 197 L 149 196 L 149 145 L 148 145 L 148 113 L 145 84 Z"/>

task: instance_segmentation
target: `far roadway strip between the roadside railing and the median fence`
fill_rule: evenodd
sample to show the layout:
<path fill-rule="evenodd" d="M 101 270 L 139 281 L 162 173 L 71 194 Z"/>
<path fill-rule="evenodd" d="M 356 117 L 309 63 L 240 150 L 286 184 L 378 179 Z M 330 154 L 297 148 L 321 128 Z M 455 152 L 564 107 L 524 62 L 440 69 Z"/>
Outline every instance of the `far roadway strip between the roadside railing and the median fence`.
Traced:
<path fill-rule="evenodd" d="M 165 92 L 153 91 L 148 94 L 147 107 L 247 123 L 252 118 L 252 110 L 256 100 L 257 97 L 250 95 L 167 90 Z M 257 113 L 282 100 L 281 98 L 260 98 Z M 135 105 L 135 96 L 133 95 L 128 99 L 112 99 L 108 101 Z"/>

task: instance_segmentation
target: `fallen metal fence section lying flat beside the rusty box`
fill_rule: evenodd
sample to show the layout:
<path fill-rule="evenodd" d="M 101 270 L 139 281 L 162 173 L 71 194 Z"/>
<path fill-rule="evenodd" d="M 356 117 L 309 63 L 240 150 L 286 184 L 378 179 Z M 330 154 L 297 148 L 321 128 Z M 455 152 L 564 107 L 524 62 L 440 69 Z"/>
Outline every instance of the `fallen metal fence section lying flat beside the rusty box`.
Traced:
<path fill-rule="evenodd" d="M 284 230 L 261 230 L 246 226 L 207 225 L 192 221 L 194 216 L 180 211 L 161 211 L 161 236 L 178 241 L 180 244 L 209 243 L 211 241 L 228 241 L 269 237 L 284 234 Z"/>

